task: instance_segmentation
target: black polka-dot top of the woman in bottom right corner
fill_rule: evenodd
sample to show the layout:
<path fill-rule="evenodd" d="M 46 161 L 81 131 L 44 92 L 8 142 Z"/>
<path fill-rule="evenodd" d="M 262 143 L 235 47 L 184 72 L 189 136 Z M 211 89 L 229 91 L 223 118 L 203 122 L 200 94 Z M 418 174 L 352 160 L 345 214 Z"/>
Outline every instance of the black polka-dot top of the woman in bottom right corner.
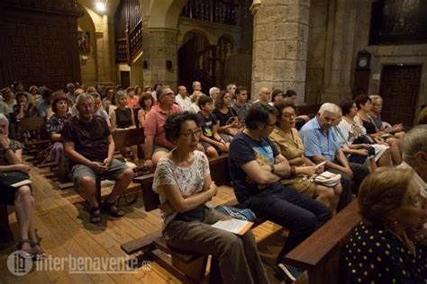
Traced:
<path fill-rule="evenodd" d="M 341 253 L 343 283 L 426 283 L 427 250 L 415 254 L 385 226 L 359 224 Z"/>

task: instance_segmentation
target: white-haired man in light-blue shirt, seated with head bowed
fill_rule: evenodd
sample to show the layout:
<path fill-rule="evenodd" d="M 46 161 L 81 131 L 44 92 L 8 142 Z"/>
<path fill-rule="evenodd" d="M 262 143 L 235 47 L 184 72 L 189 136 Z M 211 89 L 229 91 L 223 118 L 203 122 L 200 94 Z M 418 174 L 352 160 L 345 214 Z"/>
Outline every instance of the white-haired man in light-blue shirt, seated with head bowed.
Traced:
<path fill-rule="evenodd" d="M 340 144 L 332 131 L 332 124 L 337 119 L 338 106 L 325 102 L 316 117 L 304 124 L 300 130 L 304 144 L 304 155 L 313 163 L 324 164 L 325 169 L 341 174 L 342 192 L 338 202 L 338 211 L 351 202 L 351 193 L 358 193 L 359 185 L 368 175 L 364 164 L 349 163 L 342 153 Z M 354 182 L 354 186 L 352 183 Z M 352 191 L 353 190 L 353 191 Z"/>

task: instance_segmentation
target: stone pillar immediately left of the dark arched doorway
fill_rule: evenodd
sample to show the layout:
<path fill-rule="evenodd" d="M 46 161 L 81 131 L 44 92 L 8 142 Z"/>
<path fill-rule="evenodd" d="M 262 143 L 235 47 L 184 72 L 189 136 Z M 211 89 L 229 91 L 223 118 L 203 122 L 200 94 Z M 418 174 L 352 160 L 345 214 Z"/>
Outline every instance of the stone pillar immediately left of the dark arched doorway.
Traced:
<path fill-rule="evenodd" d="M 168 84 L 177 90 L 177 30 L 154 29 L 143 30 L 142 42 L 148 68 L 143 69 L 144 85 L 156 83 Z M 167 68 L 167 61 L 172 66 Z"/>

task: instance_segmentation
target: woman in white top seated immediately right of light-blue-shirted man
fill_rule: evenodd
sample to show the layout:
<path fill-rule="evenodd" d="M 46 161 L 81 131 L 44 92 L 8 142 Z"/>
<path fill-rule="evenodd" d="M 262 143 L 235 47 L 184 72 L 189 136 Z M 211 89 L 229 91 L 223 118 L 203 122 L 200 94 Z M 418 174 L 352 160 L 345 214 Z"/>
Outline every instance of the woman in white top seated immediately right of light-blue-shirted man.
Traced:
<path fill-rule="evenodd" d="M 338 124 L 338 129 L 347 142 L 350 148 L 360 149 L 365 146 L 372 146 L 375 149 L 374 161 L 378 166 L 386 166 L 391 164 L 391 155 L 388 150 L 389 146 L 385 143 L 378 144 L 373 138 L 367 135 L 367 130 L 360 126 L 354 118 L 358 114 L 356 102 L 352 100 L 341 102 L 342 120 Z M 339 137 L 340 139 L 340 137 Z M 352 161 L 350 161 L 352 162 Z M 375 165 L 371 165 L 371 169 L 375 169 Z"/>

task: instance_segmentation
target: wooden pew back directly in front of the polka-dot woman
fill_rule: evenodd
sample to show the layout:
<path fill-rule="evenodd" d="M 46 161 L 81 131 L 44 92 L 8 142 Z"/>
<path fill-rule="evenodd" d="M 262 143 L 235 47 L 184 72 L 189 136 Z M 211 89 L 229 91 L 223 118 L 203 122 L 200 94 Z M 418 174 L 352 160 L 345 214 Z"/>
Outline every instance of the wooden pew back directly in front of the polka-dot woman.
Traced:
<path fill-rule="evenodd" d="M 310 284 L 341 283 L 341 248 L 359 222 L 358 200 L 353 200 L 292 252 L 287 253 L 285 262 L 306 270 Z"/>

